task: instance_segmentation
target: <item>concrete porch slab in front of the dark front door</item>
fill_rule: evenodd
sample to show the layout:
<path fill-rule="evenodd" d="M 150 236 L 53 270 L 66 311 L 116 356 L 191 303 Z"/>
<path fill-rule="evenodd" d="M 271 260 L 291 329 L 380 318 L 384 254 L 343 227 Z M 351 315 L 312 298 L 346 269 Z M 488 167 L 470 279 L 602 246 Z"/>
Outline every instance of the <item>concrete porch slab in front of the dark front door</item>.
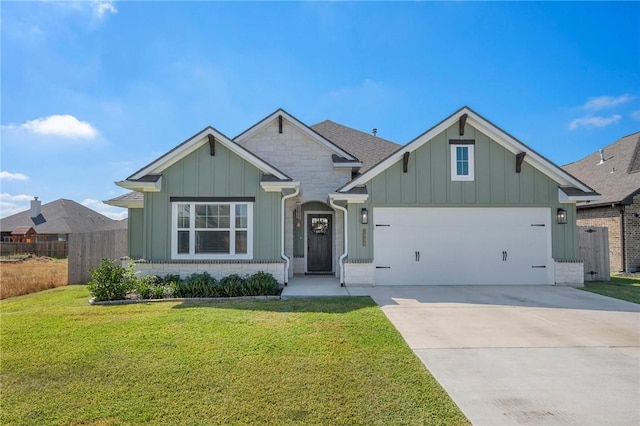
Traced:
<path fill-rule="evenodd" d="M 294 275 L 282 290 L 281 297 L 349 297 L 368 296 L 367 287 L 341 287 L 332 275 Z"/>

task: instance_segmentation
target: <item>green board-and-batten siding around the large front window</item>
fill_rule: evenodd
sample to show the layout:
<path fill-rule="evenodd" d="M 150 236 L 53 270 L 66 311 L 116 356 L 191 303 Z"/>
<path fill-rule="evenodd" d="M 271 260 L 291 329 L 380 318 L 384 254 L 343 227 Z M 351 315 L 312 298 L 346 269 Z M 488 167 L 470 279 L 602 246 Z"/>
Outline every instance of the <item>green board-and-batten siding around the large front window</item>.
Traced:
<path fill-rule="evenodd" d="M 205 144 L 171 165 L 162 172 L 162 191 L 145 193 L 145 226 L 140 226 L 138 241 L 144 241 L 146 249 L 141 248 L 141 257 L 171 259 L 170 197 L 255 197 L 253 259 L 280 259 L 281 196 L 262 190 L 261 178 L 258 168 L 218 142 L 214 156 Z M 141 221 L 136 218 L 135 223 Z"/>

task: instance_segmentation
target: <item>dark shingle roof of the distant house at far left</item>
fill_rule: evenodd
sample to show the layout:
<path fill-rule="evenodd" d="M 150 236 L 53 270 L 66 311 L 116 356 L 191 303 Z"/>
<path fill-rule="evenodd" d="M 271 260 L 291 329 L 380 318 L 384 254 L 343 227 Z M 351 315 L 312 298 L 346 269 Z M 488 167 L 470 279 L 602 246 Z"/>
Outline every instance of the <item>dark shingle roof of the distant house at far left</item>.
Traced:
<path fill-rule="evenodd" d="M 0 219 L 0 231 L 12 232 L 18 226 L 33 226 L 38 234 L 75 234 L 89 232 L 113 222 L 113 219 L 78 204 L 59 199 L 42 205 L 41 214 L 31 218 L 25 210 Z"/>

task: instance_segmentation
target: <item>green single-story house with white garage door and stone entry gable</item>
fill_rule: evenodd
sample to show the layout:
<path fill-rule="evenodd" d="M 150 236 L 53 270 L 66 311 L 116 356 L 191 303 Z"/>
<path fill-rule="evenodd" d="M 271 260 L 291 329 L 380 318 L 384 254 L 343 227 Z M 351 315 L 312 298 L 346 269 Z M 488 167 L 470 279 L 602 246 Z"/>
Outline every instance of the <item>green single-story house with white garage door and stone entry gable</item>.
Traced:
<path fill-rule="evenodd" d="M 286 285 L 580 285 L 576 203 L 598 194 L 463 107 L 404 146 L 279 109 L 207 127 L 107 201 L 143 274 L 256 271 Z"/>

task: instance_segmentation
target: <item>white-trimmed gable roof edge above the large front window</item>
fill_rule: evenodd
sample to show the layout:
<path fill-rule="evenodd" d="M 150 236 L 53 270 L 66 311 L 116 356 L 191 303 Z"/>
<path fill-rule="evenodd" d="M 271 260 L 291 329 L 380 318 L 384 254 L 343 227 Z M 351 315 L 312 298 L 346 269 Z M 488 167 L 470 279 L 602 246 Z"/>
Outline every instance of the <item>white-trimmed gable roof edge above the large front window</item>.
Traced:
<path fill-rule="evenodd" d="M 209 143 L 210 137 L 214 138 L 215 142 L 221 143 L 233 153 L 253 164 L 263 173 L 274 175 L 281 180 L 291 180 L 289 176 L 282 173 L 271 164 L 247 151 L 227 136 L 220 133 L 218 130 L 209 126 L 191 136 L 189 139 L 185 140 L 160 158 L 147 164 L 142 169 L 129 176 L 126 180 L 116 182 L 116 185 L 134 191 L 159 191 L 162 182 L 162 172 L 201 146 Z"/>

